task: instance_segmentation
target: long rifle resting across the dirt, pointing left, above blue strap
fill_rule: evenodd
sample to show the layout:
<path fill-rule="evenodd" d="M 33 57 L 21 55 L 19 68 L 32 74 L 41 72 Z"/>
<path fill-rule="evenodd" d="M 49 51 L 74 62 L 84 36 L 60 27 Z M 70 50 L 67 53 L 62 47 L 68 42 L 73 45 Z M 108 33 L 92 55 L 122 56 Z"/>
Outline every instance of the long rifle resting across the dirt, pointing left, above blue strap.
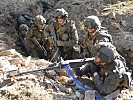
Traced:
<path fill-rule="evenodd" d="M 7 77 L 13 77 L 13 76 L 19 76 L 19 75 L 23 75 L 26 73 L 32 73 L 32 72 L 38 72 L 38 71 L 47 71 L 47 70 L 52 70 L 52 69 L 58 69 L 60 67 L 63 67 L 67 64 L 73 64 L 73 63 L 85 63 L 85 62 L 93 62 L 94 58 L 85 58 L 85 59 L 74 59 L 74 60 L 66 60 L 66 61 L 60 61 L 58 63 L 51 63 L 47 66 L 42 66 L 39 68 L 35 68 L 35 69 L 30 69 L 30 70 L 20 70 L 20 69 L 16 69 L 16 70 L 11 70 L 8 71 L 7 73 Z"/>

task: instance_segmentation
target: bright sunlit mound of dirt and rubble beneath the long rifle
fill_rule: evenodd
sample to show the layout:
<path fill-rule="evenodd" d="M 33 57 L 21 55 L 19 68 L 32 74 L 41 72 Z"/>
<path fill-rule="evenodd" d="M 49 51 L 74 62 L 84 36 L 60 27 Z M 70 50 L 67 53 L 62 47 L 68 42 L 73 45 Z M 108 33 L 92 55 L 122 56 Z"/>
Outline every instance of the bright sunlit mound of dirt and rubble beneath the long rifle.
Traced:
<path fill-rule="evenodd" d="M 90 90 L 84 92 L 78 89 L 63 69 L 14 76 L 16 73 L 45 68 L 46 65 L 51 64 L 50 62 L 44 59 L 33 59 L 30 56 L 23 57 L 15 49 L 2 51 L 0 56 L 1 100 L 88 100 L 85 98 L 88 98 Z M 8 77 L 9 75 L 12 77 Z M 91 88 L 94 87 L 94 83 L 88 78 L 84 77 L 81 82 Z M 133 99 L 132 92 L 129 89 L 122 90 L 120 94 L 116 94 L 119 95 L 117 99 Z M 89 98 L 91 96 L 94 97 L 90 94 Z"/>

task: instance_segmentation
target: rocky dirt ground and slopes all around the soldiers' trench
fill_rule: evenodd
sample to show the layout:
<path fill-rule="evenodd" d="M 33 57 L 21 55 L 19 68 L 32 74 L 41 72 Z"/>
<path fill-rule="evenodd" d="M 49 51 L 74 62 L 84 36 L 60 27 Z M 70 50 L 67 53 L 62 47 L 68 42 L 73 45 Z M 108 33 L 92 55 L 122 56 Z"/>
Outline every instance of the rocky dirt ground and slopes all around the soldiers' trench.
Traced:
<path fill-rule="evenodd" d="M 33 17 L 42 14 L 38 0 L 0 0 L 0 99 L 1 100 L 84 100 L 86 95 L 77 89 L 61 70 L 31 73 L 6 78 L 9 70 L 32 69 L 49 64 L 43 59 L 24 57 L 15 44 L 14 24 L 8 21 L 10 11 L 29 13 Z M 133 69 L 133 1 L 132 0 L 49 0 L 54 8 L 63 7 L 69 17 L 80 21 L 88 15 L 99 16 L 113 36 L 114 45 Z M 78 30 L 79 32 L 79 30 Z M 81 35 L 79 33 L 79 35 Z M 16 50 L 14 50 L 14 48 Z M 7 51 L 7 49 L 11 49 Z M 6 50 L 6 51 L 5 51 Z M 52 77 L 50 77 L 52 76 Z M 59 89 L 55 88 L 55 82 Z M 60 91 L 59 91 L 60 90 Z M 87 94 L 87 93 L 86 93 Z M 132 100 L 133 91 L 122 90 L 117 100 Z M 87 99 L 86 99 L 87 100 Z M 92 100 L 92 99 L 90 99 Z"/>

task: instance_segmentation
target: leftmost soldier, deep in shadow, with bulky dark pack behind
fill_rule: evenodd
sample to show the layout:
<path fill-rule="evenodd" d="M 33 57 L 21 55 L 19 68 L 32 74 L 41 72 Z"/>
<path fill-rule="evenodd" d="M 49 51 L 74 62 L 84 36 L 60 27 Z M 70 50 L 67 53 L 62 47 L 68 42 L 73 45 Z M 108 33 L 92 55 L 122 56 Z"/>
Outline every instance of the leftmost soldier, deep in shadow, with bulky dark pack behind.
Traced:
<path fill-rule="evenodd" d="M 18 34 L 18 37 L 16 40 L 16 46 L 20 47 L 20 49 L 22 50 L 22 53 L 25 56 L 27 56 L 29 55 L 29 53 L 25 53 L 27 52 L 27 50 L 25 50 L 24 38 L 25 38 L 25 34 L 27 33 L 28 29 L 33 25 L 33 19 L 28 14 L 10 12 L 9 15 L 11 18 L 10 21 L 12 21 L 13 23 L 16 22 L 15 29 Z"/>

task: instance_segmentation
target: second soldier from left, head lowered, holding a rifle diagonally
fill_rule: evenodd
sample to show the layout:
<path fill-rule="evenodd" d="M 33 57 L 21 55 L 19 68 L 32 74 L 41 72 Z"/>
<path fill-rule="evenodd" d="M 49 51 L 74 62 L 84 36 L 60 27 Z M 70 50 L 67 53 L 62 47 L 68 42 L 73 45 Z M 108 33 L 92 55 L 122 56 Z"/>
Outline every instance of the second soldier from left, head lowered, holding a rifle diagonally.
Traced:
<path fill-rule="evenodd" d="M 47 40 L 44 34 L 46 20 L 43 16 L 37 15 L 34 19 L 34 25 L 29 29 L 25 38 L 25 45 L 31 52 L 31 56 L 45 58 L 47 56 Z"/>

